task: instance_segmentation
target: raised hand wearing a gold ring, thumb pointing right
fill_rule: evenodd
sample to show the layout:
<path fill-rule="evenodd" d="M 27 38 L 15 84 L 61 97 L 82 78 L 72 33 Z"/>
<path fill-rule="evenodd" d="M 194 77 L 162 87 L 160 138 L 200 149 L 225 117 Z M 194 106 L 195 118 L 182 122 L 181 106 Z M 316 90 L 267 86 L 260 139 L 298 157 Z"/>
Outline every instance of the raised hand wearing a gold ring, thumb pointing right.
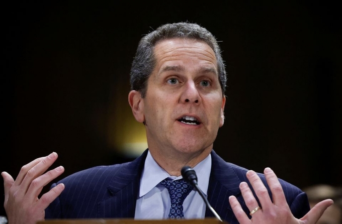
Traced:
<path fill-rule="evenodd" d="M 297 219 L 291 213 L 290 207 L 286 202 L 284 191 L 276 176 L 270 169 L 266 168 L 264 174 L 271 189 L 273 202 L 269 196 L 267 188 L 260 177 L 252 170 L 247 172 L 247 178 L 255 191 L 261 206 L 254 198 L 252 191 L 246 182 L 241 182 L 240 190 L 243 199 L 251 211 L 251 219 L 242 210 L 242 207 L 235 196 L 229 197 L 229 203 L 240 224 L 314 224 L 318 221 L 325 209 L 333 204 L 331 199 L 326 199 L 316 204 L 304 217 Z"/>

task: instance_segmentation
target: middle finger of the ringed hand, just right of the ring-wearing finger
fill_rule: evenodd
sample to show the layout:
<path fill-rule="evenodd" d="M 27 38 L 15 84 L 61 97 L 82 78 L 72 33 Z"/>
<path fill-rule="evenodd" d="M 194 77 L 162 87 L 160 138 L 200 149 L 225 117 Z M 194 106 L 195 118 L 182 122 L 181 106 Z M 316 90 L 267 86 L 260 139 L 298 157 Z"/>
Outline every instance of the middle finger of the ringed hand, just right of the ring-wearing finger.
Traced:
<path fill-rule="evenodd" d="M 253 187 L 253 190 L 255 194 L 257 195 L 262 208 L 266 208 L 272 204 L 269 192 L 267 188 L 265 187 L 263 181 L 260 179 L 257 173 L 255 173 L 253 170 L 248 170 L 247 173 L 247 178 L 250 182 L 250 184 Z M 257 205 L 258 206 L 258 205 Z M 253 207 L 252 209 L 254 209 Z"/>

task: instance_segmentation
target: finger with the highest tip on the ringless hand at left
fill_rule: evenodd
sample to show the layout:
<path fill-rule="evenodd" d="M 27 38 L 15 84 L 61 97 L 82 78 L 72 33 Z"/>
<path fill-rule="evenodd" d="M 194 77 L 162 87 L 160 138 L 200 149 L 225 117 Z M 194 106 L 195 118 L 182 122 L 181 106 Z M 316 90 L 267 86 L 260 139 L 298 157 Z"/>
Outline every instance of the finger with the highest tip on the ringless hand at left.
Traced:
<path fill-rule="evenodd" d="M 27 171 L 22 181 L 22 192 L 24 194 L 27 192 L 32 181 L 42 175 L 56 161 L 57 157 L 57 153 L 53 152 Z"/>

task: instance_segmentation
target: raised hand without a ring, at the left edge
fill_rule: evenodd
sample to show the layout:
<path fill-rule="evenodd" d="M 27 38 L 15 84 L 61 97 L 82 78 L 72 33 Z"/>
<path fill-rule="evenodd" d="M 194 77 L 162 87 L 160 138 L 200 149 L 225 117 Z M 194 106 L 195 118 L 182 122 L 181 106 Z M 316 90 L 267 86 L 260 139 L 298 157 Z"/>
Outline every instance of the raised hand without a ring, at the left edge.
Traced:
<path fill-rule="evenodd" d="M 43 187 L 64 172 L 64 167 L 59 166 L 45 173 L 57 157 L 57 153 L 53 152 L 46 157 L 35 159 L 21 168 L 16 180 L 9 173 L 2 172 L 4 207 L 9 223 L 35 224 L 38 220 L 44 220 L 45 208 L 65 187 L 64 184 L 58 184 L 38 198 Z"/>

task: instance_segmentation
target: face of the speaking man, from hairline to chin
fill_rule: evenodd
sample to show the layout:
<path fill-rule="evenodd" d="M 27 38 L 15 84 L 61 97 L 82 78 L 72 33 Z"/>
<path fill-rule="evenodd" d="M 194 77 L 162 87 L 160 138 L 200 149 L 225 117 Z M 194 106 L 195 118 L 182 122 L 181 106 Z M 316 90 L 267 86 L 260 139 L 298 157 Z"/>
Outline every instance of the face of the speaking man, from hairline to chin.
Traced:
<path fill-rule="evenodd" d="M 154 49 L 156 66 L 139 100 L 150 151 L 211 151 L 224 121 L 225 97 L 213 50 L 204 42 L 171 39 Z"/>

